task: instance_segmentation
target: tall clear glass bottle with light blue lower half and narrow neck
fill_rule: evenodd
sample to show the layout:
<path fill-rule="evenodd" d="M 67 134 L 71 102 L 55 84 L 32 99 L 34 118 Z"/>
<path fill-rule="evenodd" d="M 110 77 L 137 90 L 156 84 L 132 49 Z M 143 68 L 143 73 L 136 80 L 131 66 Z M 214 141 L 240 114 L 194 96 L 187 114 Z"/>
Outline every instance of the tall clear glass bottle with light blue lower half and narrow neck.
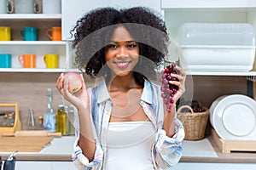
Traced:
<path fill-rule="evenodd" d="M 52 105 L 52 91 L 51 88 L 47 88 L 47 99 L 48 104 L 46 111 L 44 112 L 44 130 L 48 131 L 49 133 L 55 133 L 55 126 L 56 126 L 56 114 L 55 110 Z"/>

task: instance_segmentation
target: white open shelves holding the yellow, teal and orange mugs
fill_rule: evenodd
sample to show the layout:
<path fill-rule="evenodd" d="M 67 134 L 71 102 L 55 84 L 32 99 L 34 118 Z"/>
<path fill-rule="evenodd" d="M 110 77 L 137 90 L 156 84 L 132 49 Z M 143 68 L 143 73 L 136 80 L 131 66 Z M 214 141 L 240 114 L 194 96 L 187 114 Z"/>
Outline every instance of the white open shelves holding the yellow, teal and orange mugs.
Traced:
<path fill-rule="evenodd" d="M 53 26 L 61 26 L 61 14 L 0 14 L 0 26 L 11 27 L 11 41 L 0 41 L 1 54 L 12 54 L 12 68 L 0 71 L 37 72 L 59 71 L 66 65 L 67 43 L 51 41 L 47 30 Z M 24 41 L 20 37 L 20 29 L 35 26 L 38 29 L 38 41 Z M 36 54 L 36 68 L 23 69 L 18 61 L 20 54 Z M 44 55 L 59 54 L 60 69 L 45 69 Z"/>

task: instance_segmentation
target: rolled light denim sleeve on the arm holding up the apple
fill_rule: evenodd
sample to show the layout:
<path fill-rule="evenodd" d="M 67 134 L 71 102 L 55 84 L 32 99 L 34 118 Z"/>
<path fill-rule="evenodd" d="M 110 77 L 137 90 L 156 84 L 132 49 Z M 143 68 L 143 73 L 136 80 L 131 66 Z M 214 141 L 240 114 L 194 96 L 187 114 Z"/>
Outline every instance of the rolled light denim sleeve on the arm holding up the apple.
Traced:
<path fill-rule="evenodd" d="M 79 147 L 79 135 L 73 144 L 73 163 L 79 170 L 93 170 L 99 169 L 102 164 L 103 151 L 101 145 L 96 141 L 96 152 L 94 160 L 89 161 L 86 156 L 82 153 L 82 149 Z"/>

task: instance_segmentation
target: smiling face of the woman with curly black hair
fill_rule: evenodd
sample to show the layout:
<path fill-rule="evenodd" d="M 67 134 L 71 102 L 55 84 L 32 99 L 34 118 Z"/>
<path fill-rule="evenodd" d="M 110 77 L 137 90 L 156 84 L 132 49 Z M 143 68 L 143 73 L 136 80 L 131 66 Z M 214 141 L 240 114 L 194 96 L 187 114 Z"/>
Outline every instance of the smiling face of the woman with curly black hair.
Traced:
<path fill-rule="evenodd" d="M 138 43 L 124 26 L 117 27 L 105 52 L 106 63 L 112 71 L 112 76 L 127 76 L 137 65 L 138 58 Z"/>

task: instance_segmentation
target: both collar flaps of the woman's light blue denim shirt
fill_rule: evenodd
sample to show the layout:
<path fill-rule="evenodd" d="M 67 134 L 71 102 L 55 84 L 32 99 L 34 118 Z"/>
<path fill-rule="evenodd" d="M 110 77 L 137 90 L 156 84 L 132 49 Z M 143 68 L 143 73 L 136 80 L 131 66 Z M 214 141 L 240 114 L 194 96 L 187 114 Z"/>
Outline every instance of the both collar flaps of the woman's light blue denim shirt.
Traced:
<path fill-rule="evenodd" d="M 105 100 L 111 99 L 108 93 L 108 88 L 107 88 L 105 79 L 103 77 L 97 78 L 96 82 L 98 84 L 97 85 L 97 88 L 98 88 L 97 103 L 102 103 Z M 148 82 L 148 80 L 145 80 L 141 100 L 143 100 L 148 104 L 152 104 L 153 91 L 154 91 L 154 88 L 152 87 L 152 82 Z"/>

